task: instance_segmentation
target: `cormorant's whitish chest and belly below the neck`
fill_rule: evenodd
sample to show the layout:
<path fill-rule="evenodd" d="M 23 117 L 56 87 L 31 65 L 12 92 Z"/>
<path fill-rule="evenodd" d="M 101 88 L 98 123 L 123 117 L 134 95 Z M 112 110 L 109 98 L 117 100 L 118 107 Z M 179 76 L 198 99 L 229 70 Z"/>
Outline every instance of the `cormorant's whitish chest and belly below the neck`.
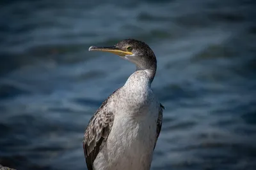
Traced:
<path fill-rule="evenodd" d="M 156 142 L 159 103 L 152 90 L 142 85 L 117 95 L 109 102 L 115 119 L 95 160 L 95 169 L 148 170 Z"/>

